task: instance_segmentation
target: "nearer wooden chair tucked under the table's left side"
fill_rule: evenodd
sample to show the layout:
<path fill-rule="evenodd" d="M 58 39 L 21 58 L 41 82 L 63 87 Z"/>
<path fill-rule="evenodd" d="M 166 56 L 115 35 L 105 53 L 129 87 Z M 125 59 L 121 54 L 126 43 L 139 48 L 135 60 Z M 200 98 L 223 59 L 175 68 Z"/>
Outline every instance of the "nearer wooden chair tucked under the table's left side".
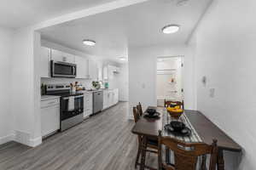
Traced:
<path fill-rule="evenodd" d="M 140 114 L 139 111 L 137 110 L 137 107 L 133 107 L 133 117 L 134 117 L 134 122 L 137 122 L 140 119 Z M 143 135 L 137 135 L 137 140 L 138 140 L 138 149 L 137 149 L 137 157 L 135 161 L 135 168 L 137 166 L 140 166 L 141 164 L 139 163 L 139 158 L 142 155 L 142 150 L 143 150 Z M 147 138 L 147 148 L 146 152 L 152 152 L 158 154 L 158 140 L 157 139 L 151 139 Z M 154 167 L 148 167 L 145 165 L 146 168 L 150 170 L 156 170 Z"/>

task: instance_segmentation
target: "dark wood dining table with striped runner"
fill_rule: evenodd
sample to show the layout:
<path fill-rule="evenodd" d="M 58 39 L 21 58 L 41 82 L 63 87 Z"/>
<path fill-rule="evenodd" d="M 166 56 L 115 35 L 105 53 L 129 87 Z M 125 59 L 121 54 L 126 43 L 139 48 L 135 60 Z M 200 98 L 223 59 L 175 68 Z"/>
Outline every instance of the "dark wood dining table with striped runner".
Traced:
<path fill-rule="evenodd" d="M 155 109 L 160 113 L 158 118 L 148 118 L 144 116 L 148 109 Z M 140 170 L 144 169 L 146 148 L 147 148 L 147 138 L 157 138 L 159 131 L 165 131 L 164 126 L 170 118 L 165 107 L 153 107 L 149 106 L 148 109 L 143 113 L 143 116 L 136 122 L 134 127 L 131 129 L 131 133 L 141 135 L 142 140 L 142 156 L 141 156 L 141 166 Z M 210 121 L 207 116 L 205 116 L 201 111 L 184 110 L 183 111 L 183 121 L 187 123 L 189 128 L 192 129 L 192 136 L 190 139 L 186 139 L 189 142 L 195 140 L 200 141 L 205 144 L 212 144 L 212 139 L 218 140 L 218 159 L 217 167 L 218 170 L 224 170 L 224 150 L 230 150 L 234 152 L 241 152 L 241 146 L 231 139 L 222 129 Z M 170 133 L 163 133 L 163 136 L 171 136 L 172 138 L 178 138 Z M 182 138 L 184 139 L 184 138 Z"/>

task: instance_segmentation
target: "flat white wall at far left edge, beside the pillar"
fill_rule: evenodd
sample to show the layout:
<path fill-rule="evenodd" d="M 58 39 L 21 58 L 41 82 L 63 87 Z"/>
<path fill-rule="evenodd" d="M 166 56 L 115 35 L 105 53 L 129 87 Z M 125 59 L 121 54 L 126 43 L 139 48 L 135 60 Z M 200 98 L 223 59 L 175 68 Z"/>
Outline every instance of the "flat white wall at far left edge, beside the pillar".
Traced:
<path fill-rule="evenodd" d="M 13 31 L 0 27 L 0 144 L 13 139 L 14 117 L 10 111 L 11 55 L 13 52 Z"/>

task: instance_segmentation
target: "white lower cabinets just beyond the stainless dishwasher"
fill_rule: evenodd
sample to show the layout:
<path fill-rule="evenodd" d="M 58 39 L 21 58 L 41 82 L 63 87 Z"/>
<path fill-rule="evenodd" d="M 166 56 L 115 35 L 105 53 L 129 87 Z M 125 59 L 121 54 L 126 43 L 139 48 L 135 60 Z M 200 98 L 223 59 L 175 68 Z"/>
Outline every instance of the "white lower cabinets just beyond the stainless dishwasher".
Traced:
<path fill-rule="evenodd" d="M 103 91 L 103 110 L 116 105 L 119 102 L 119 89 Z"/>

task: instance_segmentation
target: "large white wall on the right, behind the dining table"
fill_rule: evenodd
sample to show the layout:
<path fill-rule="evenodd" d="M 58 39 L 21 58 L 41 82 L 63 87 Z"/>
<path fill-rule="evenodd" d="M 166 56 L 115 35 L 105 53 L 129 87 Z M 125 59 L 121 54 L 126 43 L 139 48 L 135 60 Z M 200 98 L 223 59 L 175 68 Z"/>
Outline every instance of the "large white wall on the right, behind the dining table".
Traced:
<path fill-rule="evenodd" d="M 227 170 L 256 169 L 255 8 L 255 0 L 215 0 L 195 33 L 198 109 L 243 148 L 239 167 L 234 158 Z"/>

